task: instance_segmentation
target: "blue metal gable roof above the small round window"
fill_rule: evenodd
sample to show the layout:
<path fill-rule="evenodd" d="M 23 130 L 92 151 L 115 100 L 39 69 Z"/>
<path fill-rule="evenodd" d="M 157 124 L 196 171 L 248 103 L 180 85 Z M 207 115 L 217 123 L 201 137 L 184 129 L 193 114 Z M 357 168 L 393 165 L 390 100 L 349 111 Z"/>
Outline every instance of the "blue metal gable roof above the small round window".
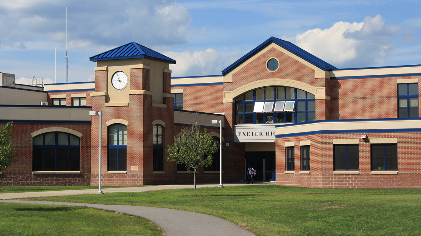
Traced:
<path fill-rule="evenodd" d="M 300 47 L 297 47 L 296 45 L 294 45 L 291 42 L 288 42 L 288 41 L 285 41 L 285 40 L 282 40 L 282 39 L 278 39 L 278 38 L 275 38 L 275 37 L 270 37 L 265 42 L 263 42 L 261 45 L 258 45 L 255 49 L 251 50 L 246 55 L 242 56 L 242 58 L 238 59 L 236 62 L 232 63 L 230 66 L 225 68 L 222 71 L 222 75 L 226 75 L 227 73 L 232 71 L 234 68 L 239 66 L 241 63 L 248 60 L 248 58 L 252 57 L 257 52 L 259 52 L 260 50 L 262 50 L 264 47 L 271 44 L 272 42 L 276 43 L 280 47 L 285 48 L 286 50 L 292 52 L 293 54 L 299 56 L 300 58 L 303 58 L 304 60 L 308 61 L 309 63 L 312 63 L 314 66 L 317 66 L 318 68 L 320 68 L 322 70 L 337 69 L 335 66 L 332 66 L 329 63 L 325 62 L 324 60 L 315 57 L 314 55 L 310 54 L 309 52 L 306 52 L 305 50 L 301 49 Z"/>

